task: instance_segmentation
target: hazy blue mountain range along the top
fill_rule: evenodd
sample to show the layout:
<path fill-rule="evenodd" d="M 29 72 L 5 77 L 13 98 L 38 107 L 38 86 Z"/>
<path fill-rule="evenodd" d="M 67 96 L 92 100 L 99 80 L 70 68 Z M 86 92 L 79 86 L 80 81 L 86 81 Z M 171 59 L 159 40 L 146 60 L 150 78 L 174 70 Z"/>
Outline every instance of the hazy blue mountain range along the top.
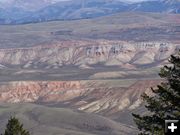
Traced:
<path fill-rule="evenodd" d="M 122 0 L 8 0 L 8 2 L 9 4 L 0 3 L 0 24 L 94 18 L 125 11 L 180 13 L 179 0 L 137 3 Z"/>

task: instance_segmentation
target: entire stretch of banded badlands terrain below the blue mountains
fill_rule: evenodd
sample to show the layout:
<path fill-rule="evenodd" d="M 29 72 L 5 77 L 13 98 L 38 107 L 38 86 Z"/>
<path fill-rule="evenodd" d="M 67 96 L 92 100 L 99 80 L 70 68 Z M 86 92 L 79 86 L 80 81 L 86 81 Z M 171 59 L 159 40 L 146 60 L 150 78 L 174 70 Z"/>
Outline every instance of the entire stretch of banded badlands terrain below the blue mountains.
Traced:
<path fill-rule="evenodd" d="M 0 133 L 16 115 L 32 135 L 134 135 L 141 94 L 180 49 L 180 16 L 120 13 L 0 26 Z"/>

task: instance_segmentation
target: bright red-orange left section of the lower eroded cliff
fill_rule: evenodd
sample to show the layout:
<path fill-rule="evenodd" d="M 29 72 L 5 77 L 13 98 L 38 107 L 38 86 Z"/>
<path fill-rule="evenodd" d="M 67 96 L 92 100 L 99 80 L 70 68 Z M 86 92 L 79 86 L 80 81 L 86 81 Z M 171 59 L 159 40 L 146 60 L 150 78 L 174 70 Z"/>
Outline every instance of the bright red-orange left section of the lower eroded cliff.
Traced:
<path fill-rule="evenodd" d="M 82 94 L 81 84 L 74 82 L 11 82 L 0 86 L 0 101 L 35 102 L 59 102 L 70 100 Z"/>

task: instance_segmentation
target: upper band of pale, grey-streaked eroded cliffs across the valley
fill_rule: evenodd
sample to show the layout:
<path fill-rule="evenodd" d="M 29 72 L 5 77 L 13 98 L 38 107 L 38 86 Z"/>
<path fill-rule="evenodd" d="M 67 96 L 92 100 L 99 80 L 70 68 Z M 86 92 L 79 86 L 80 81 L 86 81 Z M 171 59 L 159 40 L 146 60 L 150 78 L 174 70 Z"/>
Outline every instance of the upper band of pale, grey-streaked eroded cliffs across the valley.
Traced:
<path fill-rule="evenodd" d="M 105 66 L 143 65 L 165 60 L 178 48 L 180 45 L 162 42 L 63 41 L 32 48 L 0 49 L 0 64 L 23 68 L 59 68 L 63 65 L 87 68 L 98 63 Z"/>

